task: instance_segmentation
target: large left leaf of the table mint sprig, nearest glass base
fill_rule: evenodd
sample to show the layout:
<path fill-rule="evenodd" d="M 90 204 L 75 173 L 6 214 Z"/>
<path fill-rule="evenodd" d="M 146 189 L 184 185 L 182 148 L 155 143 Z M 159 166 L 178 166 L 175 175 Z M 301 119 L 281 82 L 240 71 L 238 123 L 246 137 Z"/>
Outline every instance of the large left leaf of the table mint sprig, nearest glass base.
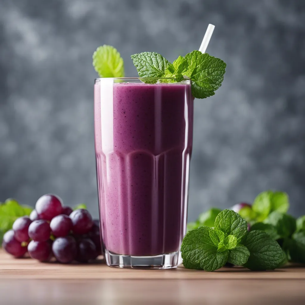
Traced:
<path fill-rule="evenodd" d="M 208 227 L 200 227 L 189 231 L 181 245 L 183 260 L 195 265 L 200 264 L 205 271 L 221 268 L 228 259 L 228 250 L 217 253 L 217 247 L 210 238 L 210 230 Z"/>

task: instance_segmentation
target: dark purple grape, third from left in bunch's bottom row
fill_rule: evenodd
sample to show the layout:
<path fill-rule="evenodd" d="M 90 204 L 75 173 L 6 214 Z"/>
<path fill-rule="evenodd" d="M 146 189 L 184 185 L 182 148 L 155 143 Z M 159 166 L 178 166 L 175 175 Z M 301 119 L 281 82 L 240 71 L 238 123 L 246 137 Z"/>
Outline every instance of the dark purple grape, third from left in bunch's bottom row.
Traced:
<path fill-rule="evenodd" d="M 77 255 L 76 241 L 72 236 L 58 237 L 52 244 L 52 251 L 61 263 L 71 263 Z"/>

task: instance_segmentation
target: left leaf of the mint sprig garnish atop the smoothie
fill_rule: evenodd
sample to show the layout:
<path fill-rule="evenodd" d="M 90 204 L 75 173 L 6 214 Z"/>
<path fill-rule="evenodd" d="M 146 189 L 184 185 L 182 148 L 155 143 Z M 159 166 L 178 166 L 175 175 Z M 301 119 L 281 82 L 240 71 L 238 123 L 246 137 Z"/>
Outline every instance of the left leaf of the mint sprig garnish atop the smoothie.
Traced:
<path fill-rule="evenodd" d="M 164 77 L 170 63 L 156 52 L 142 52 L 131 55 L 139 77 Z"/>

